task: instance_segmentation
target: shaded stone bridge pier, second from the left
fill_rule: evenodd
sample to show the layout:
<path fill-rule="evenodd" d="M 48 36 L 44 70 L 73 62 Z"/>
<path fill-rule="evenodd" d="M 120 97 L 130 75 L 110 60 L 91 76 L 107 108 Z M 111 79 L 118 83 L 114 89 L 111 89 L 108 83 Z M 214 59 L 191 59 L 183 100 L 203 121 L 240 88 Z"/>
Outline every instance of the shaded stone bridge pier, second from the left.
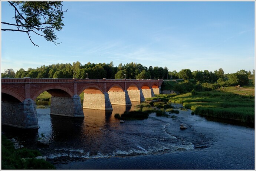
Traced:
<path fill-rule="evenodd" d="M 52 97 L 51 115 L 61 115 L 69 117 L 85 117 L 81 105 L 80 96 L 75 94 L 73 97 Z"/>

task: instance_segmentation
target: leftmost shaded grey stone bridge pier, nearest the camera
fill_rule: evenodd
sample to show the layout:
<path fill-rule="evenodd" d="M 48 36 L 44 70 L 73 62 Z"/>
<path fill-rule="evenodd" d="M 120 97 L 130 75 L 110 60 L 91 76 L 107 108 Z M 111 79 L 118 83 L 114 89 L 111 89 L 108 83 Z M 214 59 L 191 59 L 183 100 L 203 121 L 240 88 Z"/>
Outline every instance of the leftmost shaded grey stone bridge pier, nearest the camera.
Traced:
<path fill-rule="evenodd" d="M 38 128 L 36 103 L 30 98 L 21 103 L 1 101 L 1 124 L 17 128 Z"/>

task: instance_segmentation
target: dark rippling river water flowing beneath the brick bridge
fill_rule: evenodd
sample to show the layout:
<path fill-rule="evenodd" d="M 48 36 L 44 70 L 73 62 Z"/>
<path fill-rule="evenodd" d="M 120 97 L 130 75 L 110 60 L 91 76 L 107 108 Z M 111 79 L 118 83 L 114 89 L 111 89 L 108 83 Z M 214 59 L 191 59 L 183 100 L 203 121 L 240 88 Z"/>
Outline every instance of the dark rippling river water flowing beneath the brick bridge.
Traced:
<path fill-rule="evenodd" d="M 40 150 L 58 170 L 255 170 L 254 126 L 191 115 L 191 110 L 180 110 L 181 104 L 174 104 L 180 113 L 168 117 L 152 113 L 123 124 L 115 119 L 136 104 L 113 105 L 113 111 L 84 109 L 84 118 L 37 108 L 38 130 L 2 127 L 2 132 Z M 50 140 L 49 147 L 36 145 L 42 136 Z"/>

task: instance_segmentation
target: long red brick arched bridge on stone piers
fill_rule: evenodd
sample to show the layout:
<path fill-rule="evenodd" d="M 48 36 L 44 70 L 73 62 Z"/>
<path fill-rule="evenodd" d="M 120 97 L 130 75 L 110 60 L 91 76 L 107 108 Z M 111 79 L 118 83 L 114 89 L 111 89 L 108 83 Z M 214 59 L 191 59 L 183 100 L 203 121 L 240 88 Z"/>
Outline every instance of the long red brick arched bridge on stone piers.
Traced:
<path fill-rule="evenodd" d="M 1 123 L 19 128 L 38 128 L 35 99 L 44 91 L 52 95 L 50 114 L 84 117 L 83 108 L 112 110 L 112 104 L 131 106 L 131 101 L 160 94 L 163 80 L 1 78 Z M 80 94 L 84 93 L 83 106 Z"/>

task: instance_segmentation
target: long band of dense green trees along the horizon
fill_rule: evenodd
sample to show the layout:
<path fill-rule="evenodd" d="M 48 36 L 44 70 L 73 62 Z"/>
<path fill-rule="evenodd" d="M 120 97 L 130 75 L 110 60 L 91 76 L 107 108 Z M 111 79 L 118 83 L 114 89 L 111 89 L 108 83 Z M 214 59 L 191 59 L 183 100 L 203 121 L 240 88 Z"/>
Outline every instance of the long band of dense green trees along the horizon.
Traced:
<path fill-rule="evenodd" d="M 248 85 L 249 79 L 254 85 L 255 83 L 255 70 L 246 71 L 240 70 L 232 74 L 224 74 L 222 68 L 214 72 L 204 71 L 191 71 L 190 69 L 182 69 L 181 71 L 168 71 L 167 67 L 145 67 L 137 63 L 120 63 L 114 66 L 111 61 L 109 64 L 105 63 L 90 63 L 82 65 L 79 61 L 72 64 L 52 64 L 49 66 L 41 66 L 28 68 L 24 70 L 20 68 L 16 73 L 10 69 L 7 73 L 1 73 L 1 77 L 9 78 L 110 78 L 110 79 L 193 79 L 198 84 L 208 83 L 216 84 L 219 87 L 228 87 L 235 85 Z M 211 85 L 212 86 L 212 85 Z"/>

